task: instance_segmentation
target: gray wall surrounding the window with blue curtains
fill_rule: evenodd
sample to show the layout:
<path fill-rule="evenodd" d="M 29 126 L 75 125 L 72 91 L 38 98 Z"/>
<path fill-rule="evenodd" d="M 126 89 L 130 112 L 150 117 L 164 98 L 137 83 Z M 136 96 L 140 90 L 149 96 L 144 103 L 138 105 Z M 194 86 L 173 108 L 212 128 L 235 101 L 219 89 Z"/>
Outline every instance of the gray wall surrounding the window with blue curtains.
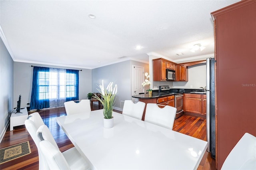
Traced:
<path fill-rule="evenodd" d="M 26 103 L 30 103 L 31 91 L 32 91 L 32 77 L 33 67 L 31 65 L 40 67 L 51 67 L 61 69 L 79 69 L 70 67 L 60 67 L 54 65 L 42 65 L 14 62 L 14 107 L 18 101 L 19 95 L 21 95 L 21 107 L 27 107 Z M 87 94 L 92 89 L 92 70 L 82 69 L 79 71 L 79 99 L 87 99 Z"/>

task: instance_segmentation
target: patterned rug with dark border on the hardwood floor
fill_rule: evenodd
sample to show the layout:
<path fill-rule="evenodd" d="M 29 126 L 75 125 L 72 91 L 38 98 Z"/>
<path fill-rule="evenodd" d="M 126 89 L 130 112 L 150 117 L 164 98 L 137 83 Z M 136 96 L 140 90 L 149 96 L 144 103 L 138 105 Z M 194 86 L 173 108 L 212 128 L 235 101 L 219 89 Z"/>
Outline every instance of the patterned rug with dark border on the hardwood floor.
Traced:
<path fill-rule="evenodd" d="M 31 150 L 28 141 L 2 148 L 0 149 L 0 164 L 20 158 L 21 156 L 25 156 L 30 153 Z"/>

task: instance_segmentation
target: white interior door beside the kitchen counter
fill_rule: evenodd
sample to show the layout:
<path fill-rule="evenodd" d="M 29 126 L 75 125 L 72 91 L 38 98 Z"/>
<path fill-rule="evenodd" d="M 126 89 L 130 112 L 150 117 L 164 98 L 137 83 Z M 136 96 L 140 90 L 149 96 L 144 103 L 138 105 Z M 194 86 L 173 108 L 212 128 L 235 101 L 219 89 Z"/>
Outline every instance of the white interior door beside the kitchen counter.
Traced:
<path fill-rule="evenodd" d="M 144 93 L 144 67 L 132 65 L 132 95 Z M 134 98 L 133 98 L 134 100 Z"/>

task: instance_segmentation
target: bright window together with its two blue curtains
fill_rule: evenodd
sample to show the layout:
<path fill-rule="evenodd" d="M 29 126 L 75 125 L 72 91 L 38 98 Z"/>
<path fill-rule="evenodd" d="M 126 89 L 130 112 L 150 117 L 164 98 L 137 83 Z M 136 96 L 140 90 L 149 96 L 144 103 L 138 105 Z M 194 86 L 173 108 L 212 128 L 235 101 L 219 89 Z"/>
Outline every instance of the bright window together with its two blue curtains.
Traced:
<path fill-rule="evenodd" d="M 34 67 L 30 109 L 64 106 L 78 100 L 78 70 Z"/>

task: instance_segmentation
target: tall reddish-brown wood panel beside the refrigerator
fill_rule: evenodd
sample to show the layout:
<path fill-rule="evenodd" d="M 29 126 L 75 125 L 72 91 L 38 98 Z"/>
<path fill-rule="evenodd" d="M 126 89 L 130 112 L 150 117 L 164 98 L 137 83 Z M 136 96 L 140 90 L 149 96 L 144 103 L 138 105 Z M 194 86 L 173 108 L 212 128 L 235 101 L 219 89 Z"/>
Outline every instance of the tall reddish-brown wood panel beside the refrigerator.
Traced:
<path fill-rule="evenodd" d="M 216 44 L 216 156 L 220 169 L 245 132 L 256 136 L 256 0 L 237 2 L 212 12 L 212 17 Z M 242 92 L 242 98 L 234 92 Z"/>

